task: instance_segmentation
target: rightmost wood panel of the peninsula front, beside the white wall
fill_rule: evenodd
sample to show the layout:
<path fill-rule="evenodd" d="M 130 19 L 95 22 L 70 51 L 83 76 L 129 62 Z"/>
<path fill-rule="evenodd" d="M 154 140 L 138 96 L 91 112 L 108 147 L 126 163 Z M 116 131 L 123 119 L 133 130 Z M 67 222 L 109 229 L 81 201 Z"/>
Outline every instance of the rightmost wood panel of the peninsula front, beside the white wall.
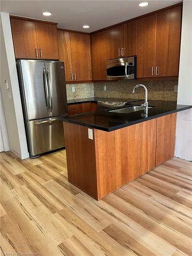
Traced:
<path fill-rule="evenodd" d="M 177 113 L 157 118 L 156 166 L 175 154 Z"/>

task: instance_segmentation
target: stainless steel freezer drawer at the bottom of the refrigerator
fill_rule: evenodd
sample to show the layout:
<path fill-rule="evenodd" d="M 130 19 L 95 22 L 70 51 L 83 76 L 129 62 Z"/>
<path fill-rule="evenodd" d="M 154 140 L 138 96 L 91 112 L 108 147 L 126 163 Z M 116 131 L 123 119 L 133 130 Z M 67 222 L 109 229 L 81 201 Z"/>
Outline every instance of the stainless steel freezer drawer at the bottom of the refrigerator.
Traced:
<path fill-rule="evenodd" d="M 31 157 L 65 146 L 61 117 L 27 121 L 27 130 Z"/>

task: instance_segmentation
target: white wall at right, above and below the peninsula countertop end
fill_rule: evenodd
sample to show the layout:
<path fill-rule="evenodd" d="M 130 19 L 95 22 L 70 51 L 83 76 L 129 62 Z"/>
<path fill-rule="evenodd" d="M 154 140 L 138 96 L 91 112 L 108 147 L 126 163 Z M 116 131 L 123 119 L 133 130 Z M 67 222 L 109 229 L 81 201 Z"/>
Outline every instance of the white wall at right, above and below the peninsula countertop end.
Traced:
<path fill-rule="evenodd" d="M 183 1 L 178 104 L 192 105 L 192 1 Z M 177 115 L 175 156 L 192 161 L 192 109 Z"/>

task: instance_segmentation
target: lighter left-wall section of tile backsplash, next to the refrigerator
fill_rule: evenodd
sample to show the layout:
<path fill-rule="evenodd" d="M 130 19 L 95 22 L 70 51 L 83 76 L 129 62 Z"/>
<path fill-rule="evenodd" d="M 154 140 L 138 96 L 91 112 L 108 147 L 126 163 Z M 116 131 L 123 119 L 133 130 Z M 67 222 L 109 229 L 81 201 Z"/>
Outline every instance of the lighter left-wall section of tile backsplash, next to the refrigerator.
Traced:
<path fill-rule="evenodd" d="M 72 87 L 75 92 L 72 92 Z M 68 99 L 81 99 L 94 97 L 94 84 L 93 83 L 67 83 L 67 98 Z"/>

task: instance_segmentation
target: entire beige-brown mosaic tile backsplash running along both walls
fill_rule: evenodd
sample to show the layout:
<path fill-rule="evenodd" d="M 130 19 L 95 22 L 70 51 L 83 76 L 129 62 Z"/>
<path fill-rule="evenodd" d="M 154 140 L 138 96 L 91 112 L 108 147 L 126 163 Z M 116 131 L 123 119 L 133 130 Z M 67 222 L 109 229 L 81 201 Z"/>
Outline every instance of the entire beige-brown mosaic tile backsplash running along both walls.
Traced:
<path fill-rule="evenodd" d="M 144 90 L 138 88 L 132 93 L 136 84 L 142 83 L 148 90 L 148 99 L 156 100 L 177 100 L 177 92 L 174 92 L 175 86 L 178 86 L 178 80 L 159 80 L 159 81 L 139 81 L 126 80 L 114 82 L 95 82 L 95 83 L 70 83 L 66 84 L 67 98 L 80 99 L 90 97 L 102 98 L 130 98 L 143 99 Z M 106 85 L 106 91 L 103 86 Z M 72 92 L 72 87 L 75 92 Z"/>

